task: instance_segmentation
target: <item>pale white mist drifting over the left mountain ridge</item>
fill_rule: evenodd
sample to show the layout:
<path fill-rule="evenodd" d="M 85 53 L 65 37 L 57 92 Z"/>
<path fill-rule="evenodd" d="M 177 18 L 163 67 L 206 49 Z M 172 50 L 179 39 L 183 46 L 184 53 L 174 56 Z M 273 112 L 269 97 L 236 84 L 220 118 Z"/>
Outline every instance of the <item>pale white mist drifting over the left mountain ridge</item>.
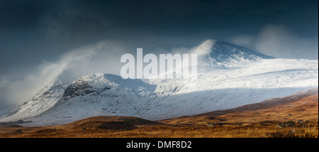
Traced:
<path fill-rule="evenodd" d="M 56 61 L 43 61 L 26 75 L 19 77 L 18 71 L 0 75 L 0 109 L 26 102 L 58 76 L 65 82 L 72 82 L 96 72 L 118 74 L 122 51 L 109 42 L 99 42 L 70 50 Z"/>

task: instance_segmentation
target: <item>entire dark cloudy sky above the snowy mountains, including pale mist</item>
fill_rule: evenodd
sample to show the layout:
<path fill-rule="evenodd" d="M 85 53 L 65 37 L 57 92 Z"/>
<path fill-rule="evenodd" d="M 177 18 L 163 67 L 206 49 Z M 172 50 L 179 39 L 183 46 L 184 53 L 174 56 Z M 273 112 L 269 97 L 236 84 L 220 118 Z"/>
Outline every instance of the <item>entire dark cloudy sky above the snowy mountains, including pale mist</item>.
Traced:
<path fill-rule="evenodd" d="M 0 0 L 0 109 L 10 94 L 8 84 L 39 79 L 46 85 L 46 75 L 59 75 L 69 67 L 53 73 L 45 68 L 73 66 L 81 56 L 94 58 L 96 46 L 89 47 L 94 53 L 74 57 L 70 50 L 112 43 L 97 51 L 94 68 L 85 68 L 94 72 L 110 68 L 104 57 L 114 63 L 118 55 L 136 53 L 136 48 L 145 53 L 171 51 L 208 38 L 274 57 L 318 59 L 318 1 Z"/>

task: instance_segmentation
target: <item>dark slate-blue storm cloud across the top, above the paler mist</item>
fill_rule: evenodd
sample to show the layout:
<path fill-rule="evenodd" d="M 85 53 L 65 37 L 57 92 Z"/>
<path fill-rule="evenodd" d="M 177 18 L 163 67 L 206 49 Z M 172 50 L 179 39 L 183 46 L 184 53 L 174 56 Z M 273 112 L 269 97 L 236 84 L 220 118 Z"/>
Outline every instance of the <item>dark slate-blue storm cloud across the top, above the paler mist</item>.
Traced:
<path fill-rule="evenodd" d="M 1 45 L 45 52 L 41 58 L 101 39 L 191 46 L 206 38 L 257 34 L 269 23 L 318 36 L 318 1 L 31 0 L 1 6 L 1 42 L 9 40 Z"/>

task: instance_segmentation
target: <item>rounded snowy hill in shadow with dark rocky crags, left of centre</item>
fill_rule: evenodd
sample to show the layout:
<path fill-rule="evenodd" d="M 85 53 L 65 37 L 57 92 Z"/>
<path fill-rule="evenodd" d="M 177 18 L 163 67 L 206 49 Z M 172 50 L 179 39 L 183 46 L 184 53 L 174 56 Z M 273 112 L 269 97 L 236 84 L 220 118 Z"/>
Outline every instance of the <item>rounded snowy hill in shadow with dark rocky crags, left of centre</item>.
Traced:
<path fill-rule="evenodd" d="M 141 80 L 123 80 L 118 75 L 85 75 L 72 82 L 57 104 L 39 119 L 55 124 L 55 119 L 74 121 L 99 115 L 135 116 L 138 109 L 134 105 L 156 97 L 154 89 L 154 85 Z"/>

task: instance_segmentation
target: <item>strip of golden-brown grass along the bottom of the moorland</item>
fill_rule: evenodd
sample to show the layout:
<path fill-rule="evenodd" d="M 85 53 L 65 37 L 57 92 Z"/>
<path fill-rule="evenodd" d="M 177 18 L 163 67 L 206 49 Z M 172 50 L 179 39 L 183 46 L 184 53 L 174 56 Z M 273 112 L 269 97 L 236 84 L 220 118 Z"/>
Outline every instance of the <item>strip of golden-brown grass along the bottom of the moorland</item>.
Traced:
<path fill-rule="evenodd" d="M 278 128 L 276 124 L 225 126 L 140 126 L 132 130 L 80 129 L 62 126 L 1 129 L 1 137 L 35 138 L 318 138 L 318 120 L 306 126 Z"/>

